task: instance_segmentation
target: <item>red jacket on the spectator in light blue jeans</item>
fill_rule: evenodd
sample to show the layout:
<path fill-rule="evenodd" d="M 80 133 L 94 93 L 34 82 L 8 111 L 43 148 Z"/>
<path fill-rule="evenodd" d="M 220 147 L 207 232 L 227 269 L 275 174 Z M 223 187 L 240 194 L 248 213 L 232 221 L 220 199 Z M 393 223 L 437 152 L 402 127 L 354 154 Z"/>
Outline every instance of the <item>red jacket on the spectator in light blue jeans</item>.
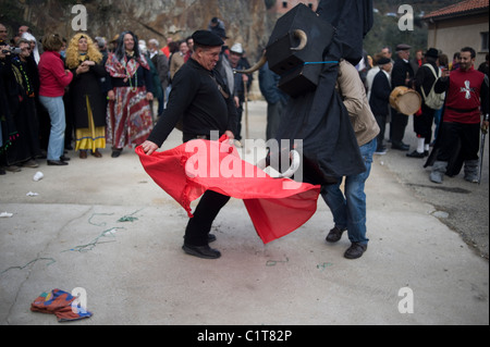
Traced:
<path fill-rule="evenodd" d="M 58 52 L 46 51 L 38 64 L 40 88 L 42 97 L 62 97 L 64 88 L 72 82 L 73 74 L 65 72 L 63 61 Z"/>

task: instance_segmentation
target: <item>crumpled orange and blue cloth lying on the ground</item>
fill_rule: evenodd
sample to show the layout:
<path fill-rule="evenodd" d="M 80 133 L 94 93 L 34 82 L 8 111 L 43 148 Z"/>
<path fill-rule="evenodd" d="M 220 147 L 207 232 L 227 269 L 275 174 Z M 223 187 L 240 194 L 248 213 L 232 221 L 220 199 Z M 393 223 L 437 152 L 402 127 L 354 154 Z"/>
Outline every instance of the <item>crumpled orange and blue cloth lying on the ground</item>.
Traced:
<path fill-rule="evenodd" d="M 77 321 L 91 317 L 93 313 L 85 308 L 72 305 L 76 297 L 68 292 L 52 289 L 39 295 L 30 305 L 30 311 L 54 314 L 58 322 Z"/>

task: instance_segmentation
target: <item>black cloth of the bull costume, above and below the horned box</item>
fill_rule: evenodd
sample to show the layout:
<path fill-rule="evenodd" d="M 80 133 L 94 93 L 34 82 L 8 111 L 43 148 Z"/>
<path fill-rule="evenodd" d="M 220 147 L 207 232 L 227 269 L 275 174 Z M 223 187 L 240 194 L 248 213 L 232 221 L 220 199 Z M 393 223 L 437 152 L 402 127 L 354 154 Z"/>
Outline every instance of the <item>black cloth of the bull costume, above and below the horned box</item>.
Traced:
<path fill-rule="evenodd" d="M 363 39 L 373 24 L 372 0 L 321 0 L 317 14 L 335 28 L 323 61 L 345 59 L 356 65 L 363 58 Z M 339 63 L 326 63 L 316 90 L 290 99 L 275 136 L 291 144 L 303 140 L 303 181 L 307 183 L 332 184 L 336 177 L 366 171 L 348 112 L 335 91 L 338 74 Z"/>

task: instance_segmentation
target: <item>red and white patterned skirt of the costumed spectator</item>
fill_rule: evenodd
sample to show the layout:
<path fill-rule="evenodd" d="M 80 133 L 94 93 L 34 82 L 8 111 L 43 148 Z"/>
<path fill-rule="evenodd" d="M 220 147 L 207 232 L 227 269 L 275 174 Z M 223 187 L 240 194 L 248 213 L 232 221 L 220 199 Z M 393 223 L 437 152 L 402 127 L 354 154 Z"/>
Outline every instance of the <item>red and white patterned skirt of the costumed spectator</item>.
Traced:
<path fill-rule="evenodd" d="M 107 141 L 113 148 L 139 146 L 148 138 L 154 123 L 146 88 L 114 88 L 115 101 L 107 107 Z"/>

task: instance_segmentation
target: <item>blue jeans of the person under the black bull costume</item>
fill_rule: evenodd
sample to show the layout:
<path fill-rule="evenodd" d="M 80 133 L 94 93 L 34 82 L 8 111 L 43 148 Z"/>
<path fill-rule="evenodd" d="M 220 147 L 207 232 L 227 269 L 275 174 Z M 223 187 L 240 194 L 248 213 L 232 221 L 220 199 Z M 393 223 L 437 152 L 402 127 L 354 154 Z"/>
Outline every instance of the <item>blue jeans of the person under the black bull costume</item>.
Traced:
<path fill-rule="evenodd" d="M 366 194 L 364 187 L 371 172 L 372 154 L 376 147 L 376 138 L 360 147 L 366 171 L 359 175 L 345 177 L 345 196 L 340 189 L 342 177 L 339 177 L 338 184 L 326 185 L 321 188 L 321 196 L 332 211 L 335 226 L 340 230 L 347 228 L 351 243 L 360 245 L 367 245 L 369 241 L 366 238 Z"/>

